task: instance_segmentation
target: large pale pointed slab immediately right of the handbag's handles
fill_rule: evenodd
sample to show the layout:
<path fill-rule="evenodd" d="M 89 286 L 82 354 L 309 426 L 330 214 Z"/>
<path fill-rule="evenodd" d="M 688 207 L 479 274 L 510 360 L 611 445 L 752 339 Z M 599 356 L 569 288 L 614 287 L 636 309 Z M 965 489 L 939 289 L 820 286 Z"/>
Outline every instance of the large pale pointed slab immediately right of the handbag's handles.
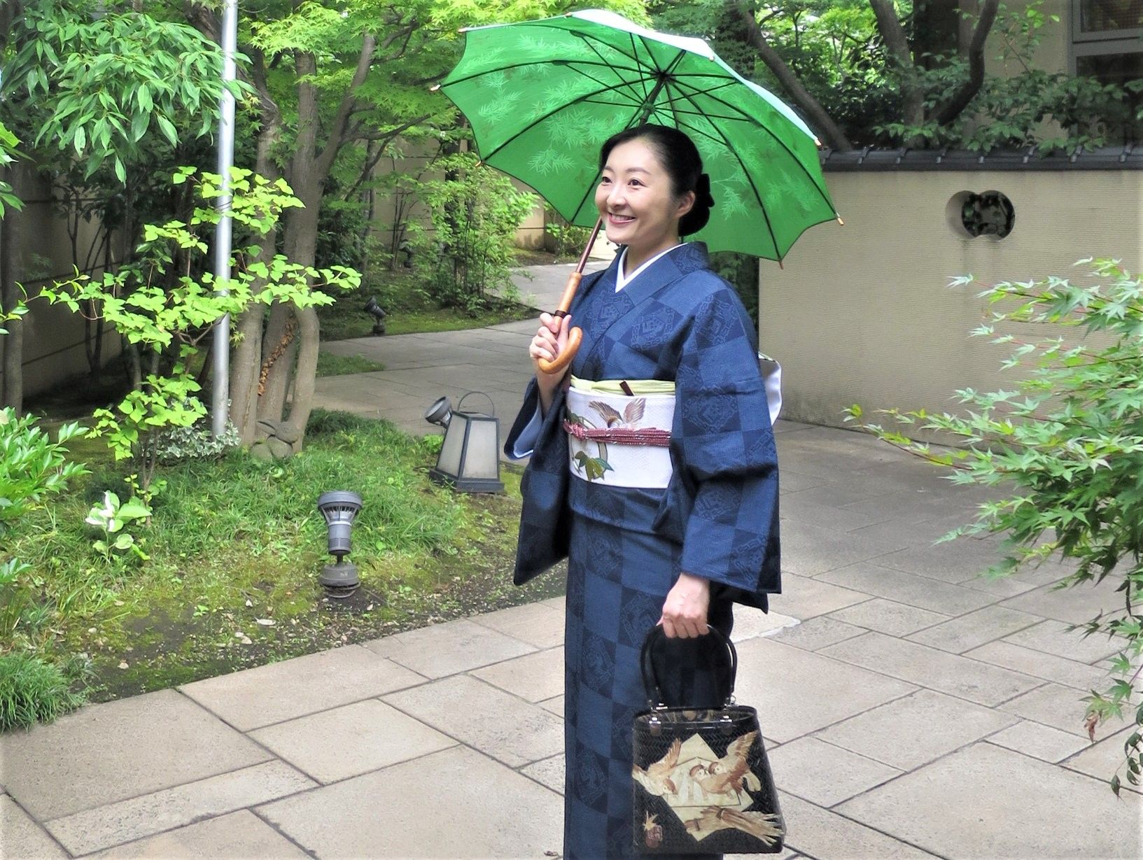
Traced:
<path fill-rule="evenodd" d="M 917 688 L 769 638 L 738 645 L 735 697 L 758 708 L 762 736 L 784 744 Z"/>

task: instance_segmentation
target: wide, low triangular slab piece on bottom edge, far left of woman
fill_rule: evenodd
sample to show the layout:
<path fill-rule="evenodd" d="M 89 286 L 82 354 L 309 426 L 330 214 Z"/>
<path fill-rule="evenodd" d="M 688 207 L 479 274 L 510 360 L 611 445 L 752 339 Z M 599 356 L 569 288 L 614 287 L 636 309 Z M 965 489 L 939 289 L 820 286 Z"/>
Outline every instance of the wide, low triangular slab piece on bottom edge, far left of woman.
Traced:
<path fill-rule="evenodd" d="M 138 860 L 235 860 L 237 858 L 304 858 L 305 852 L 248 810 L 207 819 L 93 858 Z"/>

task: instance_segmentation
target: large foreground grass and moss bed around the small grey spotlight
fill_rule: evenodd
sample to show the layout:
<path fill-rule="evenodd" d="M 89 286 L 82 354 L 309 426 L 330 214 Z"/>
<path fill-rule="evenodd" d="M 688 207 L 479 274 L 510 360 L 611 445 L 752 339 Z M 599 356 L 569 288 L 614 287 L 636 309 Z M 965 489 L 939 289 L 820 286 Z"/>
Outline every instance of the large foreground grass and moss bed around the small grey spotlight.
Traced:
<path fill-rule="evenodd" d="M 511 585 L 520 472 L 503 496 L 454 495 L 427 476 L 437 442 L 315 410 L 289 460 L 163 468 L 151 523 L 131 528 L 149 557 L 111 564 L 83 517 L 122 474 L 94 468 L 5 549 L 32 565 L 37 653 L 88 654 L 102 701 L 561 594 L 562 577 Z M 329 556 L 315 501 L 337 489 L 365 501 L 350 556 L 362 586 L 342 602 L 317 585 Z"/>

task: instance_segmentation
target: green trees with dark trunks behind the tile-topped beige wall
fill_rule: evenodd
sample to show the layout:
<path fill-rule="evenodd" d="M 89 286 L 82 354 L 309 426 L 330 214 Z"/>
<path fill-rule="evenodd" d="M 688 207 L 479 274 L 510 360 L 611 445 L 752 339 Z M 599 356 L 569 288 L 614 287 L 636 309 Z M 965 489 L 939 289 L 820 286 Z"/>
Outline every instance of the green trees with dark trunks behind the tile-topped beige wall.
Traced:
<path fill-rule="evenodd" d="M 1048 150 L 1138 134 L 1133 94 L 1143 83 L 1105 86 L 1034 67 L 1046 27 L 1064 26 L 1044 2 L 977 7 L 968 14 L 936 0 L 657 0 L 652 11 L 665 27 L 710 38 L 746 77 L 794 103 L 838 151 Z M 1000 74 L 986 71 L 990 43 L 1000 46 Z"/>

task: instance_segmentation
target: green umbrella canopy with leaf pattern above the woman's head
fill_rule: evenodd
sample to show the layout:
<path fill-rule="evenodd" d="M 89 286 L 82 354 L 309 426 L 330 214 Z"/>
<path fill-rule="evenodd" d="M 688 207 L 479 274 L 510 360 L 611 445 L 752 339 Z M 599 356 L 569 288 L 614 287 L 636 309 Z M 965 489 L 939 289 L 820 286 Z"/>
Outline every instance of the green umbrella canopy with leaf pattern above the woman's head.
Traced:
<path fill-rule="evenodd" d="M 806 123 L 701 39 L 597 9 L 465 32 L 441 91 L 472 124 L 481 159 L 572 224 L 598 217 L 600 144 L 641 122 L 673 126 L 698 147 L 716 206 L 694 239 L 711 250 L 781 260 L 808 227 L 838 217 Z"/>

